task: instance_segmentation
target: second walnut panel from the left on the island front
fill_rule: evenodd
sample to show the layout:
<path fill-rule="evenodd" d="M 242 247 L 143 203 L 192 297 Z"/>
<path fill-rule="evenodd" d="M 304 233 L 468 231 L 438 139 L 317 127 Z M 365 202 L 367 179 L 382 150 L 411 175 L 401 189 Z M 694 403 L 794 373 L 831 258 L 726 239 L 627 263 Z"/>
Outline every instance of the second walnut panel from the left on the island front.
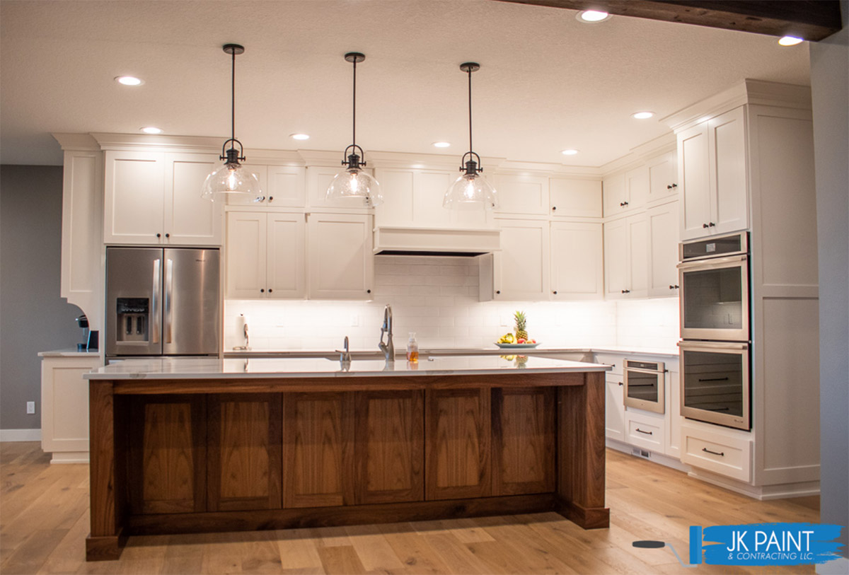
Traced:
<path fill-rule="evenodd" d="M 207 399 L 209 511 L 280 508 L 282 400 L 282 394 Z"/>

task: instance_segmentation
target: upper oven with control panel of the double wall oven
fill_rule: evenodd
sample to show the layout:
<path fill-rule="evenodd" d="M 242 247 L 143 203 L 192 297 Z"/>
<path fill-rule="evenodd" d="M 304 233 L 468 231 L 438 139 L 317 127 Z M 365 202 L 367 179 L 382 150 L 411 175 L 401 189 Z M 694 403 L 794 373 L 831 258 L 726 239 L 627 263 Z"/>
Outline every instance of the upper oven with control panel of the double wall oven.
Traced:
<path fill-rule="evenodd" d="M 681 338 L 750 341 L 746 232 L 680 246 Z"/>

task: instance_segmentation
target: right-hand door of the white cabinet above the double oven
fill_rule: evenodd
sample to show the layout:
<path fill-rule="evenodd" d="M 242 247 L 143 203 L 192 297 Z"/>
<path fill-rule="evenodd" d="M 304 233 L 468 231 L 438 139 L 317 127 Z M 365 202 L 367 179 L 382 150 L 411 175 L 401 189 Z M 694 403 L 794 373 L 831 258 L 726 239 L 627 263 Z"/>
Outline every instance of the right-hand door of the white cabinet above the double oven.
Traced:
<path fill-rule="evenodd" d="M 749 227 L 745 112 L 742 106 L 707 122 L 711 142 L 711 234 Z M 712 225 L 711 225 L 712 224 Z"/>

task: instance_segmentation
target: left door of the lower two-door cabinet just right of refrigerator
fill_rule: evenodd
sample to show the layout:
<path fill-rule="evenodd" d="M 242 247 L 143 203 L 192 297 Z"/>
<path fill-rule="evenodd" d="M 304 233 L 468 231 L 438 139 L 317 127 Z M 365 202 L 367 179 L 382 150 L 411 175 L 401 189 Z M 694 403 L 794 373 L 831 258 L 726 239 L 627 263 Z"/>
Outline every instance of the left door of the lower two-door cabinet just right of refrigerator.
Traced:
<path fill-rule="evenodd" d="M 267 221 L 263 212 L 228 212 L 227 297 L 266 297 Z"/>

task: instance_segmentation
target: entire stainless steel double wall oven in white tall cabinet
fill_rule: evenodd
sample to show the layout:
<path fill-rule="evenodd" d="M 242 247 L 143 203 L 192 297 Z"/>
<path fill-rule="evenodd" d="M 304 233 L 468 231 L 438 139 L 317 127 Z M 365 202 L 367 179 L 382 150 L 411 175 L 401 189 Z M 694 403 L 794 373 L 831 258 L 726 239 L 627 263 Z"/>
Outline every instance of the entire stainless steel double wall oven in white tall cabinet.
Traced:
<path fill-rule="evenodd" d="M 751 429 L 748 232 L 681 243 L 681 415 Z"/>

